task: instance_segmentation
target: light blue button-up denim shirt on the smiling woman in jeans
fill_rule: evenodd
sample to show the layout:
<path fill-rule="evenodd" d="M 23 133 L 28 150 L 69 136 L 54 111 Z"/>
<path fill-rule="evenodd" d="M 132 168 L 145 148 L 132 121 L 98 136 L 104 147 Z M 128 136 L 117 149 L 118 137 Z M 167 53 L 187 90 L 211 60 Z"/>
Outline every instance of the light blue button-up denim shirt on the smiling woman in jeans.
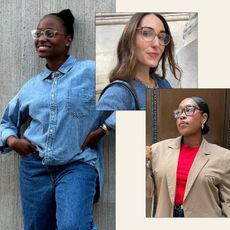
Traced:
<path fill-rule="evenodd" d="M 1 152 L 10 151 L 6 139 L 19 137 L 21 125 L 31 119 L 23 137 L 36 146 L 44 165 L 83 161 L 103 176 L 102 142 L 80 152 L 89 132 L 100 125 L 102 113 L 95 103 L 94 61 L 69 56 L 57 72 L 45 68 L 7 105 L 0 124 Z"/>

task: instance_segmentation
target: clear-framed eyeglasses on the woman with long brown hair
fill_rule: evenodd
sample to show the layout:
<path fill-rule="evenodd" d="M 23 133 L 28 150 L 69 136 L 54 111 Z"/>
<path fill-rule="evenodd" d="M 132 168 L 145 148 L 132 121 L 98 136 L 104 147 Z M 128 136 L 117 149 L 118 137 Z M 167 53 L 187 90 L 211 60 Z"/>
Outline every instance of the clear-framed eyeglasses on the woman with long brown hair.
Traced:
<path fill-rule="evenodd" d="M 162 46 L 167 46 L 171 41 L 169 34 L 166 34 L 165 32 L 157 34 L 151 27 L 140 27 L 137 28 L 137 30 L 141 32 L 142 38 L 147 42 L 151 42 L 157 37 Z"/>

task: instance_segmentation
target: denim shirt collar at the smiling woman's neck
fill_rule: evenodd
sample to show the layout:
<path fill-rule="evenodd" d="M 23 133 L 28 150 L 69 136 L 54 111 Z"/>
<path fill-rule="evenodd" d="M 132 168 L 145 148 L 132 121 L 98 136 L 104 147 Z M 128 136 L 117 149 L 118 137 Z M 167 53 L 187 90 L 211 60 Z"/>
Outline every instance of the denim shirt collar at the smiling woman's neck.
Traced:
<path fill-rule="evenodd" d="M 76 61 L 77 59 L 74 56 L 70 55 L 64 62 L 64 64 L 57 70 L 57 72 L 60 72 L 63 75 L 66 74 L 68 71 L 70 71 L 70 69 L 72 69 Z M 44 71 L 41 73 L 42 80 L 49 78 L 52 73 L 53 71 L 50 70 L 46 64 Z"/>

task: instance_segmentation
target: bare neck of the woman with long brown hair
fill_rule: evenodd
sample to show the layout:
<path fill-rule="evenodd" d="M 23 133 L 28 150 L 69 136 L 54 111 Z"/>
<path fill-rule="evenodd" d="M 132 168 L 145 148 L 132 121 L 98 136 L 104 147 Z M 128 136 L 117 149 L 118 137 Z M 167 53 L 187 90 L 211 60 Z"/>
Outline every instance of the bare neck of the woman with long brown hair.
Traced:
<path fill-rule="evenodd" d="M 141 81 L 148 88 L 155 88 L 156 86 L 154 79 L 149 75 L 149 67 L 136 68 L 135 79 Z"/>

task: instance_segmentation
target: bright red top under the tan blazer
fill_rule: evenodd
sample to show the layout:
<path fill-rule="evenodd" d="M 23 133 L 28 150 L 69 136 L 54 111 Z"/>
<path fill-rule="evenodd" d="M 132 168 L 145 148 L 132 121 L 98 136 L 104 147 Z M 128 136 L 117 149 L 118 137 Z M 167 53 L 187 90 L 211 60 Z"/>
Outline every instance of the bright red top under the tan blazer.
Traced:
<path fill-rule="evenodd" d="M 183 204 L 185 186 L 188 179 L 188 173 L 194 161 L 194 158 L 199 150 L 199 147 L 188 147 L 185 144 L 181 145 L 180 156 L 177 166 L 176 180 L 176 197 L 175 204 Z"/>

